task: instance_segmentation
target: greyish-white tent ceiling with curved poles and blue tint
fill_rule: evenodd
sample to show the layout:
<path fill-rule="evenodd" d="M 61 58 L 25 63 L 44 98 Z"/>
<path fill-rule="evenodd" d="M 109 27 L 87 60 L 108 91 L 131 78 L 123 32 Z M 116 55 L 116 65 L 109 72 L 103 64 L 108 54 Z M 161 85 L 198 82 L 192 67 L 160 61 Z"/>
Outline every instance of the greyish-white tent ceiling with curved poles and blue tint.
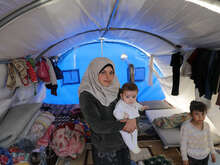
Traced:
<path fill-rule="evenodd" d="M 0 0 L 0 24 L 39 2 L 44 3 L 1 27 L 0 59 L 57 55 L 100 37 L 124 40 L 155 55 L 171 52 L 172 43 L 220 47 L 219 14 L 184 0 Z"/>

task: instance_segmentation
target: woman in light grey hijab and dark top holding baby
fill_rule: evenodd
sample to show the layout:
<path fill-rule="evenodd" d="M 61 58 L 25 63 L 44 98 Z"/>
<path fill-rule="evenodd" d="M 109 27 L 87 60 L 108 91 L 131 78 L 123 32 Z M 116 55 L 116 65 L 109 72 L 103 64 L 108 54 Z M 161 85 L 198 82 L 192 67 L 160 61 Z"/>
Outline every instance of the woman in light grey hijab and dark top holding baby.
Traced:
<path fill-rule="evenodd" d="M 114 64 L 105 57 L 89 64 L 79 87 L 80 109 L 91 129 L 94 165 L 130 165 L 129 150 L 119 131 L 133 132 L 136 120 L 114 118 L 119 87 Z"/>

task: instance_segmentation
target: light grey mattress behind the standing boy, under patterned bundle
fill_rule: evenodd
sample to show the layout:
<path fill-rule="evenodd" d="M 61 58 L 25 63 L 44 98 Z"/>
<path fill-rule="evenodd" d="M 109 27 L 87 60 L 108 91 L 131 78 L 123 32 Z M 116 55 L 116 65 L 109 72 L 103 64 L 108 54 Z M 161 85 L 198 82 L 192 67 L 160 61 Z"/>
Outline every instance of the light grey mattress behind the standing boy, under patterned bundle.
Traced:
<path fill-rule="evenodd" d="M 169 129 L 162 129 L 158 128 L 154 123 L 153 120 L 158 117 L 163 116 L 171 116 L 173 114 L 183 113 L 183 111 L 179 109 L 157 109 L 157 110 L 147 110 L 145 114 L 149 121 L 152 123 L 153 128 L 157 132 L 158 136 L 160 137 L 164 148 L 167 149 L 169 147 L 179 147 L 180 146 L 180 129 L 179 128 L 169 128 Z M 214 144 L 220 144 L 220 136 L 213 126 L 212 122 L 207 118 L 206 120 L 211 128 L 211 134 L 214 141 Z"/>

